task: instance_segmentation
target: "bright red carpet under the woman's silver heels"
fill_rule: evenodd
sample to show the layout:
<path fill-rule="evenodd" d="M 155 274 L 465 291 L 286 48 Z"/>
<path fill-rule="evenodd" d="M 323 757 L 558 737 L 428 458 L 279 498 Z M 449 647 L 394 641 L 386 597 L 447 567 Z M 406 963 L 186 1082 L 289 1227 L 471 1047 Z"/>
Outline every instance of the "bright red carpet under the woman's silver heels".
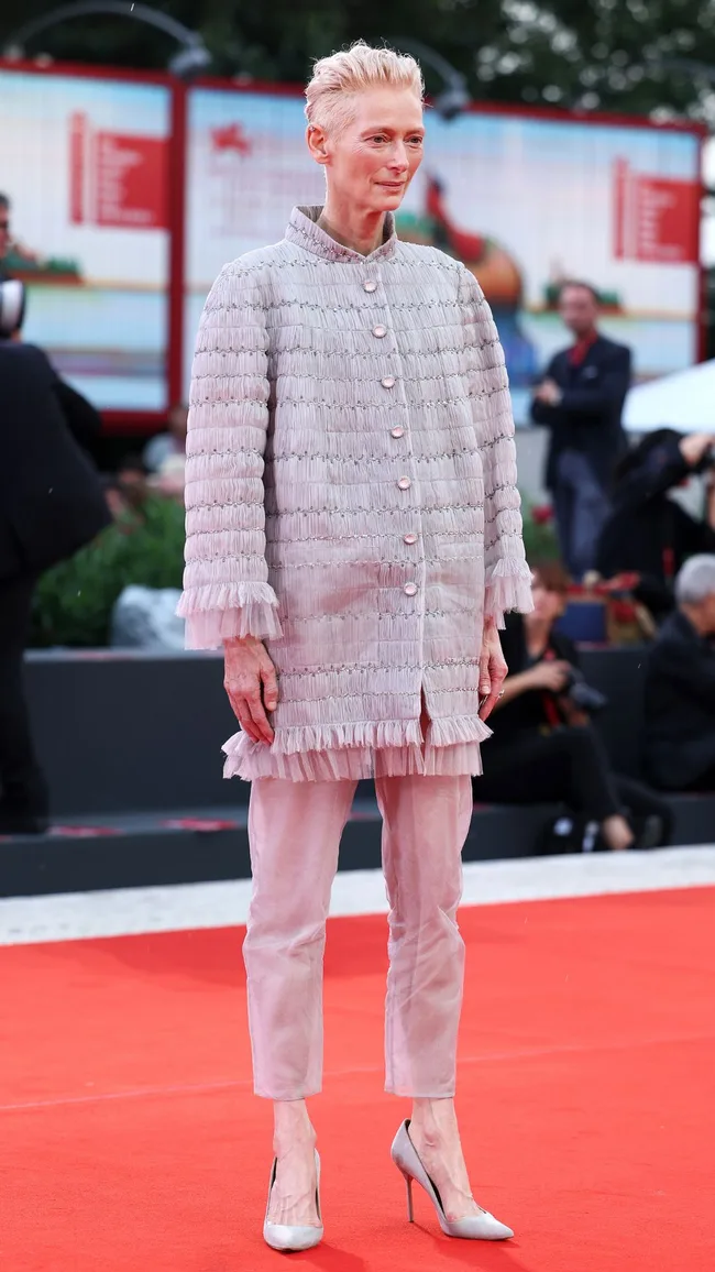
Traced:
<path fill-rule="evenodd" d="M 384 918 L 330 931 L 324 1272 L 710 1272 L 715 889 L 462 912 L 461 1119 L 505 1245 L 405 1221 Z M 240 931 L 0 950 L 3 1272 L 262 1272 Z"/>

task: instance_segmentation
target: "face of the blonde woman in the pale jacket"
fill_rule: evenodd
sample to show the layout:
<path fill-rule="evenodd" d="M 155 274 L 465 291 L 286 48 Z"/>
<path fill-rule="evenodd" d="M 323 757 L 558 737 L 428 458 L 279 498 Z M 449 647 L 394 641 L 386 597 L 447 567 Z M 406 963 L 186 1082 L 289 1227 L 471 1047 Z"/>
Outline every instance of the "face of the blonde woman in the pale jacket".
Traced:
<path fill-rule="evenodd" d="M 310 128 L 313 158 L 324 164 L 328 191 L 364 211 L 399 207 L 422 160 L 422 107 L 410 89 L 356 93 L 342 128 Z"/>

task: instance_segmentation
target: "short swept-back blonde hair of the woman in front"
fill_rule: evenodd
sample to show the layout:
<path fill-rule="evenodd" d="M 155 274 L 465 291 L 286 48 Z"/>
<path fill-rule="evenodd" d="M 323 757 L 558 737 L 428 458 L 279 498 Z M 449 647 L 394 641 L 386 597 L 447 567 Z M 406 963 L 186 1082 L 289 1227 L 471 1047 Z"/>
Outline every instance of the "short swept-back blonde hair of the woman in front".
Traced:
<path fill-rule="evenodd" d="M 321 57 L 305 88 L 305 117 L 318 128 L 342 128 L 350 118 L 350 98 L 366 88 L 406 88 L 421 103 L 425 84 L 420 64 L 393 48 L 371 48 L 359 39 L 330 57 Z"/>

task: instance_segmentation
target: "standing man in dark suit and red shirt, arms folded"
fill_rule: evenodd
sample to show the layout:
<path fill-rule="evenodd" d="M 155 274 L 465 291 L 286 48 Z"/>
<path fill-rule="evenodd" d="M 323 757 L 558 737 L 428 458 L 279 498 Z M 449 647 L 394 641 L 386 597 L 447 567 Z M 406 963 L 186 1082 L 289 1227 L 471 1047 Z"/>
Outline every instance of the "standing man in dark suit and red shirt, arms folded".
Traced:
<path fill-rule="evenodd" d="M 575 343 L 551 359 L 534 389 L 532 420 L 551 430 L 546 486 L 561 555 L 573 577 L 581 579 L 595 566 L 613 467 L 626 449 L 621 413 L 631 352 L 599 333 L 598 293 L 588 282 L 565 282 L 559 312 Z"/>

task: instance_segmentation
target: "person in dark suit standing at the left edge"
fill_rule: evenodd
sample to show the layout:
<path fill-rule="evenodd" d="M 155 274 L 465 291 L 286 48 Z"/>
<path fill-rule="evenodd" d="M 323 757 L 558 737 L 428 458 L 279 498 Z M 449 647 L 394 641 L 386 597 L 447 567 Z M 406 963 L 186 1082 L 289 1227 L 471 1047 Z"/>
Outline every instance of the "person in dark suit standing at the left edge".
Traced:
<path fill-rule="evenodd" d="M 81 449 L 101 417 L 41 349 L 19 342 L 23 309 L 22 282 L 0 282 L 0 834 L 47 822 L 23 688 L 34 584 L 111 520 Z"/>

